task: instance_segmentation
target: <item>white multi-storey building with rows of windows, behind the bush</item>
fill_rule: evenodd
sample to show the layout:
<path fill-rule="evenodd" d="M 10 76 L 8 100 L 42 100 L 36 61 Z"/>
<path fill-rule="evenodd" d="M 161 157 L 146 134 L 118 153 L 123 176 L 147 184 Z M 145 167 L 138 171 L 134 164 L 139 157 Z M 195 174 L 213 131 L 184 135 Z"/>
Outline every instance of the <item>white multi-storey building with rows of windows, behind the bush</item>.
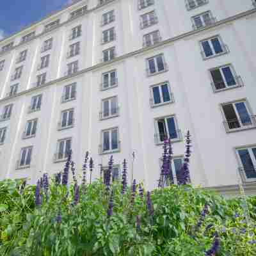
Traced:
<path fill-rule="evenodd" d="M 256 1 L 81 0 L 0 41 L 0 179 L 127 158 L 157 186 L 193 140 L 191 181 L 256 193 Z M 120 169 L 119 169 L 120 175 Z"/>

